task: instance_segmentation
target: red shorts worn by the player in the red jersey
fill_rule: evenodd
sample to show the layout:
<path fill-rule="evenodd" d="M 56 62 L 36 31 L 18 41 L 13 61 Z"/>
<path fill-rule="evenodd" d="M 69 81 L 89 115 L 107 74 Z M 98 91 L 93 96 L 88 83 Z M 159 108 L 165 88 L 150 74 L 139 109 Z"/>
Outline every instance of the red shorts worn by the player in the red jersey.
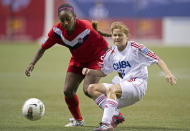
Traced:
<path fill-rule="evenodd" d="M 104 54 L 104 53 L 102 53 L 102 54 Z M 86 63 L 80 62 L 77 59 L 71 57 L 67 72 L 73 72 L 73 73 L 82 75 L 82 69 L 84 67 L 90 68 L 90 69 L 100 69 L 102 62 L 103 62 L 103 59 L 101 58 L 101 56 L 95 60 L 92 60 L 92 61 L 89 61 Z"/>

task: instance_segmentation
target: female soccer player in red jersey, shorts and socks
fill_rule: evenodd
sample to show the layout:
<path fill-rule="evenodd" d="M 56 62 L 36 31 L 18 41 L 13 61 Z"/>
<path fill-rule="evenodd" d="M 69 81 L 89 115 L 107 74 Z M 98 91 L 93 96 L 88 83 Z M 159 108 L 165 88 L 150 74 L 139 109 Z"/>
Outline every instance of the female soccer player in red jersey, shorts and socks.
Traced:
<path fill-rule="evenodd" d="M 48 33 L 47 40 L 36 52 L 32 62 L 27 67 L 25 74 L 30 76 L 37 61 L 43 56 L 44 52 L 53 45 L 60 44 L 69 48 L 72 57 L 66 73 L 64 95 L 67 106 L 73 116 L 66 127 L 83 126 L 84 120 L 79 109 L 79 100 L 76 91 L 79 84 L 84 80 L 83 90 L 87 93 L 89 84 L 97 83 L 99 77 L 82 75 L 84 67 L 99 69 L 98 63 L 108 48 L 105 39 L 93 29 L 87 20 L 76 18 L 74 8 L 70 4 L 63 4 L 58 8 L 60 22 L 53 26 Z M 89 96 L 90 97 L 90 96 Z"/>

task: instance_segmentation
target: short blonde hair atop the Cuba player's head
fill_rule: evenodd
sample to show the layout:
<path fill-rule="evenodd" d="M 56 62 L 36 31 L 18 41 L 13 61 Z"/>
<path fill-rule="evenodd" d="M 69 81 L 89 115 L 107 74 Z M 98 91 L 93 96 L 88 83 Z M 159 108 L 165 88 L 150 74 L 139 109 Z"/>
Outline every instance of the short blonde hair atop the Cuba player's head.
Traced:
<path fill-rule="evenodd" d="M 129 35 L 129 28 L 123 24 L 122 22 L 116 21 L 111 24 L 111 32 L 113 33 L 114 29 L 120 29 L 123 31 L 127 36 Z"/>

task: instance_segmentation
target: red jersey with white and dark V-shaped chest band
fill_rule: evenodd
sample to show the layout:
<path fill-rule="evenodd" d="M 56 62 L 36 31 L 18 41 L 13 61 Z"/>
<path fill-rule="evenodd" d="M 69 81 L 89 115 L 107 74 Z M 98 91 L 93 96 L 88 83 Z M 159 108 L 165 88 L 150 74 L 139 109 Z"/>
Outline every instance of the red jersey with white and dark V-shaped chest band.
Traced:
<path fill-rule="evenodd" d="M 72 58 L 80 62 L 89 62 L 100 57 L 101 52 L 108 48 L 106 40 L 93 29 L 87 20 L 76 19 L 76 26 L 71 35 L 58 23 L 48 33 L 48 39 L 42 44 L 48 49 L 55 44 L 69 48 Z"/>

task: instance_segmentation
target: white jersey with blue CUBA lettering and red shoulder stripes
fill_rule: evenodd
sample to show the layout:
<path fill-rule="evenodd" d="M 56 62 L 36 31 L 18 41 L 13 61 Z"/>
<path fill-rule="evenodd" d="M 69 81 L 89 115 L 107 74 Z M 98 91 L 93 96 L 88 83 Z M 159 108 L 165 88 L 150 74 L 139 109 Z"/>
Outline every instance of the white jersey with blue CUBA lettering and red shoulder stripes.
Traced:
<path fill-rule="evenodd" d="M 147 66 L 158 63 L 159 57 L 143 44 L 128 41 L 124 50 L 119 51 L 117 46 L 112 46 L 104 55 L 101 70 L 105 74 L 118 72 L 123 79 L 147 79 Z"/>

